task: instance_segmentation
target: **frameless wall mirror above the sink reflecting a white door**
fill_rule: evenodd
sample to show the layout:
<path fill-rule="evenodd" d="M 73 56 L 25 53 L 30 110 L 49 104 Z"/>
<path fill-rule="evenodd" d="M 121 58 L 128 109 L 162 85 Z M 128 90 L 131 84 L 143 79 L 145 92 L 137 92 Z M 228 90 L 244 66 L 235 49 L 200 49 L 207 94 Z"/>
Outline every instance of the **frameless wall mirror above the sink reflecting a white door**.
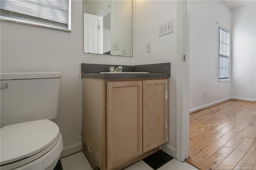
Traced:
<path fill-rule="evenodd" d="M 132 57 L 132 0 L 84 0 L 84 53 Z"/>

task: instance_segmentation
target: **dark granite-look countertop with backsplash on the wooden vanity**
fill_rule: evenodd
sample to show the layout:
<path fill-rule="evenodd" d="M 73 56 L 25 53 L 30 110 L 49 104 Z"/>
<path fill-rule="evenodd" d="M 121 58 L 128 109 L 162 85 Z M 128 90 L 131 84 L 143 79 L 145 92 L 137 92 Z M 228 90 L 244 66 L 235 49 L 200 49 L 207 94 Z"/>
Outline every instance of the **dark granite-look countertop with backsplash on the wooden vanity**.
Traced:
<path fill-rule="evenodd" d="M 109 67 L 122 66 L 124 72 L 149 72 L 149 73 L 100 73 L 109 72 Z M 147 65 L 103 65 L 82 63 L 82 78 L 95 79 L 144 79 L 144 78 L 167 78 L 170 77 L 170 63 L 147 64 Z"/>

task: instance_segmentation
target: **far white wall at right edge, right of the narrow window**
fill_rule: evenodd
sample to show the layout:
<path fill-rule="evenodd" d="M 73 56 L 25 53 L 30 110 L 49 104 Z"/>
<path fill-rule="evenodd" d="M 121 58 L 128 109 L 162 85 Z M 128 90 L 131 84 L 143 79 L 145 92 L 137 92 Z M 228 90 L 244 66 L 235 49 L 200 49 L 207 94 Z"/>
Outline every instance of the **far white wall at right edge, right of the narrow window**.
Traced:
<path fill-rule="evenodd" d="M 231 96 L 256 99 L 255 2 L 232 10 Z"/>

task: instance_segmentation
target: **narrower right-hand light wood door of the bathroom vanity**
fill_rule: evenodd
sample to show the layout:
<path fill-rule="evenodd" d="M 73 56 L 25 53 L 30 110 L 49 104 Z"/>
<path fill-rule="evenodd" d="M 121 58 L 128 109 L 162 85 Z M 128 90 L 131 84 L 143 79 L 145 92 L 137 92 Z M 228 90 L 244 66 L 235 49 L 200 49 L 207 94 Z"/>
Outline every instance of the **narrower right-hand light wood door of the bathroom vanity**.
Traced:
<path fill-rule="evenodd" d="M 143 81 L 143 152 L 167 142 L 167 79 Z"/>

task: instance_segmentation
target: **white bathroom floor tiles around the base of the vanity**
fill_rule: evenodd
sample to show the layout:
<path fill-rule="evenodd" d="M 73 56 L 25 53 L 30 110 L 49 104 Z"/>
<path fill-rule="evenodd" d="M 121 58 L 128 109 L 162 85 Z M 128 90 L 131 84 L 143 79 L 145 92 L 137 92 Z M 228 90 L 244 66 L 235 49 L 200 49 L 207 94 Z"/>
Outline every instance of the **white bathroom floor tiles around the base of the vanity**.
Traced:
<path fill-rule="evenodd" d="M 92 170 L 88 160 L 84 156 L 83 152 L 78 152 L 70 156 L 61 158 L 63 170 Z M 143 160 L 132 164 L 124 170 L 153 170 Z M 194 166 L 191 166 L 187 162 L 180 162 L 176 159 L 172 159 L 170 162 L 164 164 L 158 170 L 197 170 Z"/>

